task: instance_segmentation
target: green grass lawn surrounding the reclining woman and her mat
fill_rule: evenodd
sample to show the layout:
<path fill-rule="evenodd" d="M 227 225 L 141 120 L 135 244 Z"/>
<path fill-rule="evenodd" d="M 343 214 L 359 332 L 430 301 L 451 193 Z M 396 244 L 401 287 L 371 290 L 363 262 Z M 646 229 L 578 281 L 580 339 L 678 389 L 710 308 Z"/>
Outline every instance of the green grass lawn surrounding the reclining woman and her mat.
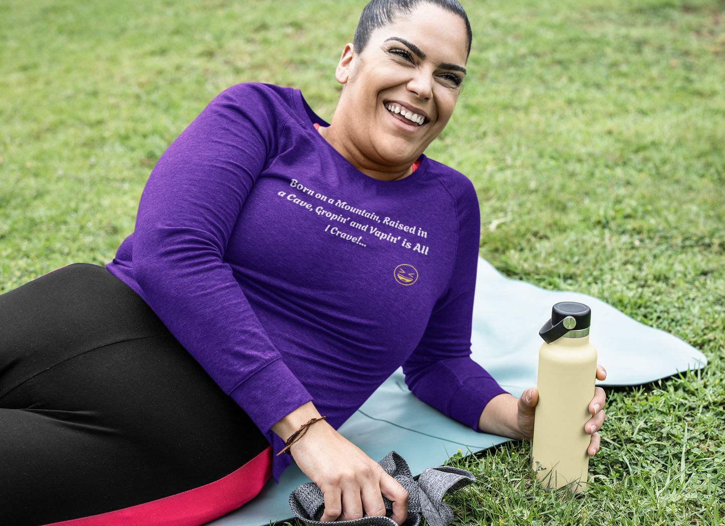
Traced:
<path fill-rule="evenodd" d="M 610 390 L 587 495 L 529 445 L 452 462 L 461 525 L 725 524 L 725 1 L 464 0 L 473 51 L 428 155 L 466 173 L 481 255 L 703 350 Z M 0 0 L 0 292 L 107 263 L 164 149 L 220 91 L 302 89 L 331 118 L 361 1 Z"/>

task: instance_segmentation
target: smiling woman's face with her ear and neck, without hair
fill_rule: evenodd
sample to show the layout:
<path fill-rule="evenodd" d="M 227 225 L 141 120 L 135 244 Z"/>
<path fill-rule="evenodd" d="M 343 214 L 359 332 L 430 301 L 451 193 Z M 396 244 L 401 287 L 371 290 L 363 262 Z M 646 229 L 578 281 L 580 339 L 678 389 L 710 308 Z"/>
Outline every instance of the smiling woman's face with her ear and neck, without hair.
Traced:
<path fill-rule="evenodd" d="M 452 115 L 467 51 L 463 20 L 428 3 L 375 30 L 363 52 L 348 44 L 333 125 L 344 128 L 353 157 L 383 167 L 413 163 Z"/>

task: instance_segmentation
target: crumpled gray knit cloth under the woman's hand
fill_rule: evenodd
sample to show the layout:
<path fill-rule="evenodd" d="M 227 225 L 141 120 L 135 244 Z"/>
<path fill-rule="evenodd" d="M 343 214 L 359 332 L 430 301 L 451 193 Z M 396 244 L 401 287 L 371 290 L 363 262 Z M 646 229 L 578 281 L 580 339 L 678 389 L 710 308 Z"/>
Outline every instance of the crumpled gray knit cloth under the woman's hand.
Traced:
<path fill-rule="evenodd" d="M 378 464 L 387 474 L 393 477 L 408 492 L 408 516 L 403 526 L 419 526 L 421 513 L 425 515 L 431 526 L 447 526 L 453 520 L 453 511 L 443 501 L 448 491 L 455 491 L 463 486 L 476 482 L 471 472 L 455 467 L 428 468 L 418 478 L 413 480 L 405 460 L 395 451 L 388 453 Z M 355 520 L 335 522 L 344 526 L 397 526 L 392 517 L 392 503 L 383 498 L 386 517 L 363 517 Z M 308 526 L 328 526 L 320 522 L 325 511 L 325 499 L 322 491 L 313 482 L 299 486 L 289 496 L 289 507 L 298 519 Z"/>

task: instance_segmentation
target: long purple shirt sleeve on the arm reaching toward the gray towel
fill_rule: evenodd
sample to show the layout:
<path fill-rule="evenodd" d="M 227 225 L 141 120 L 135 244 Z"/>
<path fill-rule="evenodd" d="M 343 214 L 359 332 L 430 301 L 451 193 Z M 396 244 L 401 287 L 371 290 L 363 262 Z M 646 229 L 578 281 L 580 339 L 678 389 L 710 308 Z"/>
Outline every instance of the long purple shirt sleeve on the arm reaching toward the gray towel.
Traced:
<path fill-rule="evenodd" d="M 264 433 L 312 399 L 223 260 L 244 200 L 291 120 L 275 96 L 246 84 L 212 101 L 159 159 L 133 234 L 141 296 Z"/>

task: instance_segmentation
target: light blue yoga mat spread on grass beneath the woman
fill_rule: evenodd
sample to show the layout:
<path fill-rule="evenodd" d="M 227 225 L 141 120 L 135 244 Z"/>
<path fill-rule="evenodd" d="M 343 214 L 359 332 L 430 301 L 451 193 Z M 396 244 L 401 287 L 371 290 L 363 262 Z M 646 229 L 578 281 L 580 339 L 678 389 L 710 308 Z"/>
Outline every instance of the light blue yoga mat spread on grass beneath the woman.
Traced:
<path fill-rule="evenodd" d="M 600 385 L 639 385 L 687 369 L 700 369 L 707 359 L 678 338 L 640 324 L 595 297 L 578 292 L 540 289 L 502 276 L 479 259 L 473 306 L 473 359 L 515 396 L 537 385 L 542 340 L 539 329 L 560 301 L 592 308 L 590 341 L 607 370 Z M 370 458 L 397 451 L 410 470 L 421 473 L 439 466 L 457 450 L 481 451 L 509 440 L 473 431 L 415 398 L 399 369 L 386 380 L 339 430 Z M 279 485 L 270 480 L 259 496 L 240 509 L 209 523 L 213 526 L 262 526 L 292 516 L 289 494 L 309 479 L 294 464 Z"/>

